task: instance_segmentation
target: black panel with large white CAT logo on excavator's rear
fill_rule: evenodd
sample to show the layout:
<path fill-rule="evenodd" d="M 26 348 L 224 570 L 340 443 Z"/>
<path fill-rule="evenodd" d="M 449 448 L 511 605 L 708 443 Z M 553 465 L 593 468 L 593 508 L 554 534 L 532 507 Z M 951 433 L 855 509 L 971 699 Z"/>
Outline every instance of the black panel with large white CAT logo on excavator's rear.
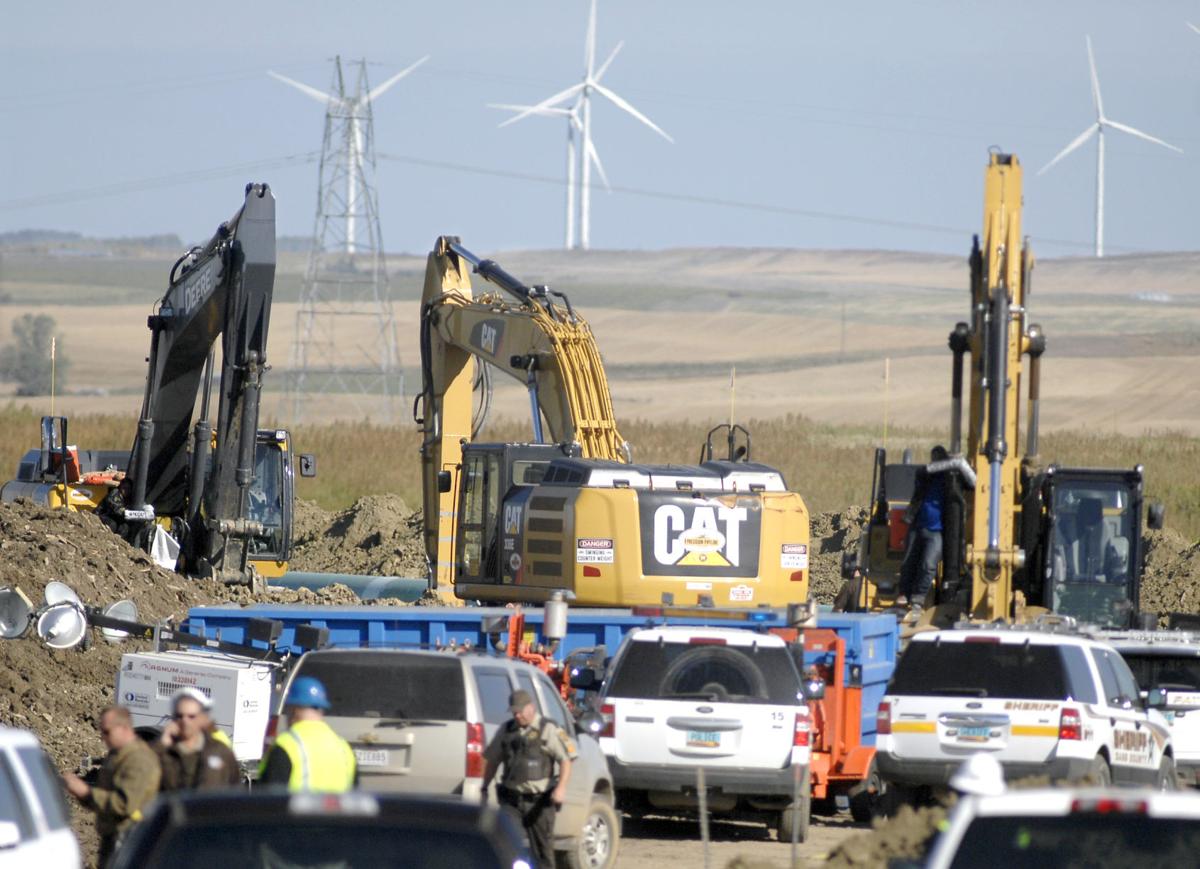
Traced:
<path fill-rule="evenodd" d="M 638 516 L 647 576 L 758 575 L 757 498 L 640 492 Z"/>

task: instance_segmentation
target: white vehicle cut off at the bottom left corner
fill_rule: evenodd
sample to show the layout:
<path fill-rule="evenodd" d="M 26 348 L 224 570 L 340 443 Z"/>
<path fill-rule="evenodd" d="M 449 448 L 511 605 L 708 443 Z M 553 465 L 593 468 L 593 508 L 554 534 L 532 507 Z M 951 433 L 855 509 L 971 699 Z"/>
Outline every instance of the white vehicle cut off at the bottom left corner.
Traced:
<path fill-rule="evenodd" d="M 0 867 L 79 865 L 59 774 L 37 737 L 0 727 Z"/>

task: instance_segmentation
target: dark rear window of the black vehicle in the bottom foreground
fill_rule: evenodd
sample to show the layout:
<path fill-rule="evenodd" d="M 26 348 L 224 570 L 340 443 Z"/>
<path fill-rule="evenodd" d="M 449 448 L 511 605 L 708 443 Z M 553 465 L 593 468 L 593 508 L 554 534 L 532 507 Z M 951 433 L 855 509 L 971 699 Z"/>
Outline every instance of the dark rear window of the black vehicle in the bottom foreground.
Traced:
<path fill-rule="evenodd" d="M 382 821 L 194 825 L 169 832 L 144 867 L 169 869 L 499 869 L 482 835 Z"/>

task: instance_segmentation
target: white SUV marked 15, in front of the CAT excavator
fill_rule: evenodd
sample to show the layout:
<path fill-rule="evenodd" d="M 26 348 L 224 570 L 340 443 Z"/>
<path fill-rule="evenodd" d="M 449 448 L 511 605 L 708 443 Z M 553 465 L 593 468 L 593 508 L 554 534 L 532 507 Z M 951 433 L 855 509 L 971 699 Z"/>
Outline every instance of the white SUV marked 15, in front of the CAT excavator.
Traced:
<path fill-rule="evenodd" d="M 632 631 L 613 658 L 600 714 L 619 807 L 696 808 L 703 769 L 709 811 L 768 813 L 781 841 L 803 841 L 811 723 L 793 651 L 780 637 L 732 628 Z"/>

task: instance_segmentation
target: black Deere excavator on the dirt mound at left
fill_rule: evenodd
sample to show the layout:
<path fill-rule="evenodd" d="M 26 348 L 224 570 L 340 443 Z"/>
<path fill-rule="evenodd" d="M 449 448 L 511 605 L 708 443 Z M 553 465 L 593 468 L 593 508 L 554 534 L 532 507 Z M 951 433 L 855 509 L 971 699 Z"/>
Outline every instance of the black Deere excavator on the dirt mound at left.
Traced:
<path fill-rule="evenodd" d="M 253 583 L 284 573 L 290 437 L 258 430 L 274 286 L 275 197 L 265 184 L 247 185 L 238 212 L 172 268 L 148 320 L 149 371 L 132 450 L 79 450 L 68 445 L 66 418 L 43 418 L 41 449 L 25 454 L 0 497 L 92 510 L 188 575 Z M 301 474 L 311 473 L 304 456 Z"/>

